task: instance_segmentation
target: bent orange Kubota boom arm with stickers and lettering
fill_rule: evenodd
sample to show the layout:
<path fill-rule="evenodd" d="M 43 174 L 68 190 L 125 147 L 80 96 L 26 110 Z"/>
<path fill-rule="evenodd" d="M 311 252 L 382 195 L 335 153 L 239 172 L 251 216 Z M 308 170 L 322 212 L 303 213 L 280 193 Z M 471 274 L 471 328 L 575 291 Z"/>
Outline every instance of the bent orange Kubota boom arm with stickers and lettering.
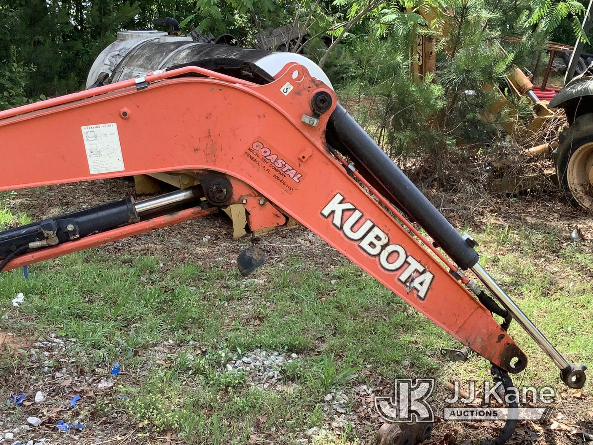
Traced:
<path fill-rule="evenodd" d="M 183 76 L 189 72 L 207 77 Z M 398 215 L 375 179 L 345 168 L 326 143 L 336 104 L 330 88 L 289 63 L 266 85 L 187 67 L 2 112 L 0 190 L 183 171 L 200 180 L 206 198 L 169 215 L 127 202 L 129 225 L 88 237 L 52 220 L 56 233 L 74 233 L 69 242 L 28 244 L 5 258 L 5 269 L 241 204 L 252 229 L 294 218 L 464 345 L 504 370 L 524 369 L 523 352 L 458 281 L 468 279 L 436 249 L 421 247 L 385 210 Z"/>

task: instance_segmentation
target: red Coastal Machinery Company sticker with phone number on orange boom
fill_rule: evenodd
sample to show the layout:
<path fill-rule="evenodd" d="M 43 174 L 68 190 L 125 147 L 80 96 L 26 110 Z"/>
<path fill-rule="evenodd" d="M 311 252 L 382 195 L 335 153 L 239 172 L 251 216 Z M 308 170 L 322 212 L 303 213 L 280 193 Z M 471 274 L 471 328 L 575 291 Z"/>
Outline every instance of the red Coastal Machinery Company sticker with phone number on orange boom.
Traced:
<path fill-rule="evenodd" d="M 305 174 L 286 161 L 286 158 L 275 148 L 256 139 L 243 152 L 243 157 L 262 170 L 288 193 L 294 192 Z"/>

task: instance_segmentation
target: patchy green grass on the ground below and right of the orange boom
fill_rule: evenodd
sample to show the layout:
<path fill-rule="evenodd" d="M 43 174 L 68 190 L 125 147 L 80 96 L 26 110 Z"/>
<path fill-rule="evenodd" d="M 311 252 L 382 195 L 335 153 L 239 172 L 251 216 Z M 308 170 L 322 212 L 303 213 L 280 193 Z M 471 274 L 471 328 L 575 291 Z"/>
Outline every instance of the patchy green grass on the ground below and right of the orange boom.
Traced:
<path fill-rule="evenodd" d="M 593 290 L 582 245 L 528 227 L 489 227 L 474 236 L 487 269 L 560 351 L 588 361 Z M 324 423 L 330 390 L 372 386 L 378 374 L 489 379 L 480 358 L 442 361 L 438 349 L 458 344 L 346 261 L 322 270 L 293 258 L 288 267 L 264 266 L 256 278 L 243 278 L 196 261 L 175 265 L 93 249 L 31 266 L 30 275 L 1 275 L 0 307 L 8 308 L 1 327 L 74 339 L 68 354 L 87 369 L 118 361 L 138 377 L 98 400 L 92 416 L 123 410 L 140 431 L 174 430 L 189 443 L 248 443 L 251 428 L 290 443 Z M 11 300 L 19 292 L 25 303 L 17 309 Z M 511 335 L 530 360 L 518 379 L 560 388 L 554 365 L 515 323 Z M 149 358 L 165 341 L 173 351 L 167 366 Z M 281 370 L 291 390 L 259 390 L 246 374 L 225 370 L 229 355 L 256 348 L 299 354 Z M 16 368 L 8 359 L 1 365 L 2 372 Z"/>

